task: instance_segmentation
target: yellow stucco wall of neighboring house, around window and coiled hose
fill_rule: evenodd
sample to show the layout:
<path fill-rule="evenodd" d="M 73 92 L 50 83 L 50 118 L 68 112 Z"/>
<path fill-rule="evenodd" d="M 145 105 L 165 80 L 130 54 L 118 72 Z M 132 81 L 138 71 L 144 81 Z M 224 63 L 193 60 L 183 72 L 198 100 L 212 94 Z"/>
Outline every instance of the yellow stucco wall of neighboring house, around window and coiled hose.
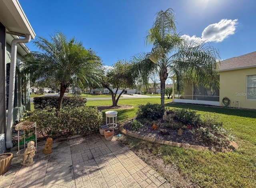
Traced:
<path fill-rule="evenodd" d="M 233 108 L 234 100 L 240 100 L 240 108 L 256 109 L 256 100 L 246 99 L 246 76 L 256 75 L 256 68 L 230 70 L 220 73 L 220 106 L 222 99 L 230 99 L 230 107 Z M 236 105 L 235 107 L 238 107 Z"/>

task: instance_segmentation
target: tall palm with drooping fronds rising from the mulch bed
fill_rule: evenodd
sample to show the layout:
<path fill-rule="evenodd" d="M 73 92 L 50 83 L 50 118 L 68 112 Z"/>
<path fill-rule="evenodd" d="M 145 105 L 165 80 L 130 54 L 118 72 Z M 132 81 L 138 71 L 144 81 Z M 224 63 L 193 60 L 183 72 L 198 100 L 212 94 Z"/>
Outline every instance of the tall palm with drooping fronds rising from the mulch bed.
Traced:
<path fill-rule="evenodd" d="M 147 83 L 152 74 L 160 78 L 161 104 L 164 104 L 165 82 L 171 74 L 177 78 L 177 91 L 181 92 L 184 78 L 193 78 L 196 83 L 203 83 L 206 88 L 218 84 L 216 68 L 218 50 L 206 42 L 187 44 L 176 33 L 176 20 L 173 10 L 160 10 L 152 28 L 146 36 L 146 44 L 152 44 L 152 51 L 134 56 L 134 71 L 137 79 Z"/>

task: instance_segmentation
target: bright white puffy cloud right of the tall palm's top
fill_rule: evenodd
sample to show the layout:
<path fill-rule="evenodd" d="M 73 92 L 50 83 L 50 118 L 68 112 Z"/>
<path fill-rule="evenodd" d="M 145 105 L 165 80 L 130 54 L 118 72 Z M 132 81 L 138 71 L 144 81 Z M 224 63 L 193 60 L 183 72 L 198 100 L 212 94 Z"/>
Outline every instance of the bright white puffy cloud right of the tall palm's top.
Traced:
<path fill-rule="evenodd" d="M 188 43 L 208 40 L 209 42 L 222 42 L 225 38 L 232 35 L 236 31 L 238 20 L 222 19 L 220 22 L 210 24 L 202 32 L 201 37 L 182 35 Z"/>

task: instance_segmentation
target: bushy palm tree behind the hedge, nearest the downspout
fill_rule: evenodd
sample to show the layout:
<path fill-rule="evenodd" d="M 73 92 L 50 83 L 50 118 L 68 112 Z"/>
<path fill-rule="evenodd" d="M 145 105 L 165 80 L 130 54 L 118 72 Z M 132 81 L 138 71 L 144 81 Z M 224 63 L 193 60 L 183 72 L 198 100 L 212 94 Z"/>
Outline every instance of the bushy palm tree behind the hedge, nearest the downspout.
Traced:
<path fill-rule="evenodd" d="M 30 76 L 31 82 L 38 80 L 57 83 L 60 86 L 58 110 L 66 89 L 72 86 L 74 96 L 79 96 L 85 83 L 99 83 L 102 63 L 91 49 L 86 50 L 75 38 L 68 40 L 62 32 L 46 38 L 38 37 L 34 42 L 40 52 L 24 56 L 22 72 Z"/>

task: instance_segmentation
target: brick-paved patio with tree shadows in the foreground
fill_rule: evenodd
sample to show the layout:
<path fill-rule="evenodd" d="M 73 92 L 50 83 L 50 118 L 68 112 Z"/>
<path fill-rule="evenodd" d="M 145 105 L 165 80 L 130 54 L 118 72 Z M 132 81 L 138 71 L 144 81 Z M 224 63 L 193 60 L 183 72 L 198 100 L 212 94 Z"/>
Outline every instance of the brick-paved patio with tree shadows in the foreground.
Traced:
<path fill-rule="evenodd" d="M 0 188 L 171 188 L 172 186 L 134 152 L 113 138 L 79 137 L 54 142 L 52 153 L 43 154 L 38 143 L 35 163 L 21 166 L 22 156 L 0 176 Z"/>

